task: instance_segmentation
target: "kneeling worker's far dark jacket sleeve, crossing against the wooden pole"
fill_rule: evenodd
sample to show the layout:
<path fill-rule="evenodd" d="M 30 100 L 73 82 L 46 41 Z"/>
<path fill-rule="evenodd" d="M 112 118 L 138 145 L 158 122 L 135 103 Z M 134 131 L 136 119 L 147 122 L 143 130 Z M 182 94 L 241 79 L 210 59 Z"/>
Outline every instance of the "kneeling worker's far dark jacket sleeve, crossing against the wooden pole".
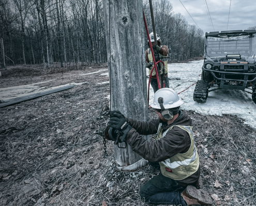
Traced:
<path fill-rule="evenodd" d="M 147 122 L 128 119 L 128 122 L 141 135 L 156 134 L 159 126 L 158 119 L 152 119 Z"/>

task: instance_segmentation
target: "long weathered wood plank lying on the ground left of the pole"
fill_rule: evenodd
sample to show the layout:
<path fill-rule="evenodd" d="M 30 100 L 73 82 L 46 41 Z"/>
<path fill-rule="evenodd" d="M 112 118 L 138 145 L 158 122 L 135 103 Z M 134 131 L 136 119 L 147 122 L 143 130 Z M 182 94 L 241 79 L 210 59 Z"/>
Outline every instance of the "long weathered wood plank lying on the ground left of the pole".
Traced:
<path fill-rule="evenodd" d="M 75 86 L 76 85 L 68 85 L 68 86 L 65 86 L 65 87 L 61 87 L 61 88 L 57 88 L 57 89 L 53 89 L 53 90 L 48 90 L 48 91 L 45 91 L 45 92 L 38 92 L 38 93 L 34 93 L 34 94 L 28 94 L 28 95 L 22 96 L 22 97 L 17 97 L 17 98 L 14 98 L 13 100 L 11 100 L 9 102 L 0 104 L 0 108 L 8 107 L 8 106 L 11 106 L 11 105 L 15 105 L 15 104 L 18 104 L 18 103 L 20 103 L 22 101 L 27 101 L 27 100 L 30 100 L 30 99 L 35 99 L 37 97 L 45 96 L 45 95 L 48 95 L 48 94 L 52 94 L 52 93 L 56 93 L 56 92 L 61 92 L 63 90 L 68 90 L 68 89 L 71 89 L 71 88 L 73 88 Z"/>

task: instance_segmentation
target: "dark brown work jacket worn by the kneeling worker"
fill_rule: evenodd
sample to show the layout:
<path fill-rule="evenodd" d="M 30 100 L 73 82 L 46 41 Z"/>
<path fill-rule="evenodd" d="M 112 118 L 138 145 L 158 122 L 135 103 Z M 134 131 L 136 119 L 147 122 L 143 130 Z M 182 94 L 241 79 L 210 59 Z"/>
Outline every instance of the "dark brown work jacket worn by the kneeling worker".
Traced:
<path fill-rule="evenodd" d="M 133 151 L 137 152 L 145 160 L 161 162 L 173 157 L 177 153 L 185 153 L 190 148 L 191 140 L 189 134 L 185 130 L 175 127 L 175 125 L 191 126 L 190 116 L 182 111 L 179 111 L 178 118 L 171 125 L 167 125 L 167 123 L 162 124 L 162 132 L 171 126 L 174 127 L 163 138 L 156 141 L 148 142 L 142 135 L 156 134 L 160 124 L 159 119 L 152 119 L 147 122 L 128 119 L 128 122 L 132 129 L 127 134 L 126 142 Z M 177 182 L 187 186 L 197 182 L 199 177 L 200 167 L 193 175 Z"/>

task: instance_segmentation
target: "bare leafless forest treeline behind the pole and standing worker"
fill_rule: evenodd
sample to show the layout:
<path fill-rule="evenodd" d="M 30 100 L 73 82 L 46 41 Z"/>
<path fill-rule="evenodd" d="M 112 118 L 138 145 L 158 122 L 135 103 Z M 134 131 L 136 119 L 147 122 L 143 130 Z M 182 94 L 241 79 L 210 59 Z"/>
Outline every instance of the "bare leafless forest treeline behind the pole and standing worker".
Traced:
<path fill-rule="evenodd" d="M 148 1 L 144 12 L 152 31 Z M 173 12 L 170 1 L 154 1 L 156 31 L 171 61 L 203 55 L 204 32 Z M 102 0 L 0 0 L 0 60 L 10 64 L 107 62 Z M 147 37 L 145 32 L 145 49 Z"/>

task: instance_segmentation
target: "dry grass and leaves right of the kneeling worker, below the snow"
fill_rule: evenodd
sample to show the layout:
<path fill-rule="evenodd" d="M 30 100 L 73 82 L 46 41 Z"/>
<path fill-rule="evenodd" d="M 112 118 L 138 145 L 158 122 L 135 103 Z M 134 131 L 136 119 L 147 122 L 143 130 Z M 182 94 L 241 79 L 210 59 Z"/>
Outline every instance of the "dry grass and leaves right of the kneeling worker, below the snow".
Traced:
<path fill-rule="evenodd" d="M 189 113 L 206 190 L 220 205 L 255 205 L 255 129 L 237 116 Z"/>

